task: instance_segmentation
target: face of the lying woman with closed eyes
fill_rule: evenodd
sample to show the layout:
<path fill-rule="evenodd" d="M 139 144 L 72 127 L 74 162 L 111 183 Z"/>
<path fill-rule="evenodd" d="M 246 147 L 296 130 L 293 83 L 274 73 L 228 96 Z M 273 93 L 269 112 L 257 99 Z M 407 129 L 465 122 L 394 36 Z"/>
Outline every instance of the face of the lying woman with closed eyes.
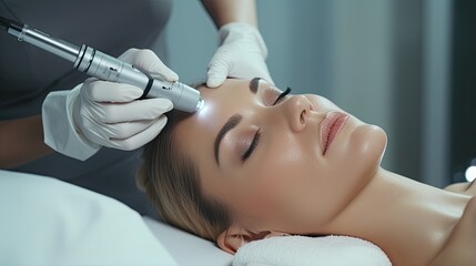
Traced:
<path fill-rule="evenodd" d="M 286 95 L 264 80 L 201 88 L 203 110 L 176 140 L 203 192 L 255 229 L 308 234 L 345 208 L 374 176 L 382 129 L 317 95 Z M 277 102 L 276 102 L 277 100 Z"/>

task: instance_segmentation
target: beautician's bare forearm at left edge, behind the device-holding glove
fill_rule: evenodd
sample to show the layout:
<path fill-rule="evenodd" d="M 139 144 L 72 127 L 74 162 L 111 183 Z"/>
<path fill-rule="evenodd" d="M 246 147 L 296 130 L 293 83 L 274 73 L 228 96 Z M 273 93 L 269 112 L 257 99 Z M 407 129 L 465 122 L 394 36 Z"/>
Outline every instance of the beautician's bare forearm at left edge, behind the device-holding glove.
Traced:
<path fill-rule="evenodd" d="M 0 122 L 0 168 L 53 153 L 43 142 L 41 115 Z"/>

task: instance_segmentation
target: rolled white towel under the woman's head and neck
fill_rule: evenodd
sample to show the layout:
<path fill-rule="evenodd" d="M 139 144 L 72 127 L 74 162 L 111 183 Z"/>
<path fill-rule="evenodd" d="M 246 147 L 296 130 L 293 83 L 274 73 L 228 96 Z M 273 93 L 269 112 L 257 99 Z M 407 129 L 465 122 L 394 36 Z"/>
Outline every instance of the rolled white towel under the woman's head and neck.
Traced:
<path fill-rule="evenodd" d="M 280 236 L 251 242 L 237 250 L 233 266 L 386 266 L 376 245 L 348 236 Z"/>

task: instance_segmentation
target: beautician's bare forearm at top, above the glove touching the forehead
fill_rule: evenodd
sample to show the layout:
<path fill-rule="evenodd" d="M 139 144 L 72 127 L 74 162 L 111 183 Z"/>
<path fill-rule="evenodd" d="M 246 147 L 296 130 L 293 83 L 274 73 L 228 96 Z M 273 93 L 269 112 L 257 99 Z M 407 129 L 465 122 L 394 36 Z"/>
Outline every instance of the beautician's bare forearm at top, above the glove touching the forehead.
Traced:
<path fill-rule="evenodd" d="M 216 28 L 230 22 L 256 22 L 256 3 L 254 0 L 202 0 Z"/>

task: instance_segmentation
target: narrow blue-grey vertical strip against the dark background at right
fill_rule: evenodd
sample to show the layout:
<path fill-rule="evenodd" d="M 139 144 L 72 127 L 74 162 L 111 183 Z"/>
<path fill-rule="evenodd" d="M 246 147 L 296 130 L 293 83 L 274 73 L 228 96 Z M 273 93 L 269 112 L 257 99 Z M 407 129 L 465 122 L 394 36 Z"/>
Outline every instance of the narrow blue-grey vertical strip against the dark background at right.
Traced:
<path fill-rule="evenodd" d="M 443 187 L 449 173 L 452 1 L 425 0 L 422 121 L 423 182 Z"/>

